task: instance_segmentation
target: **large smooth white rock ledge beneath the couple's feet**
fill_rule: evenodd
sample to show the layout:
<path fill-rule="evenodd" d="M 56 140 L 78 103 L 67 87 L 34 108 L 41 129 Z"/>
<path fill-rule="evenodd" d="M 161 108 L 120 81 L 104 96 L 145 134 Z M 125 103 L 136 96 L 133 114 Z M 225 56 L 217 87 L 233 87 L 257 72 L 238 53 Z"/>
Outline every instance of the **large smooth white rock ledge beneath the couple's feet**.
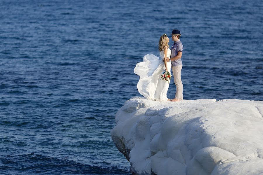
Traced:
<path fill-rule="evenodd" d="M 263 101 L 133 97 L 112 139 L 134 174 L 263 175 Z"/>

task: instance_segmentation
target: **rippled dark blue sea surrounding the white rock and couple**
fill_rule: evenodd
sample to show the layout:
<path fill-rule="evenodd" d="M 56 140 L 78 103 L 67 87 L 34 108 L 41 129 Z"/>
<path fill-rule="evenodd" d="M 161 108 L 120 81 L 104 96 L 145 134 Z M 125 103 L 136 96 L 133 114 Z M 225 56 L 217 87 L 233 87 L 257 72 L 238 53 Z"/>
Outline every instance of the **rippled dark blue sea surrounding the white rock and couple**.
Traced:
<path fill-rule="evenodd" d="M 0 174 L 131 174 L 110 130 L 172 29 L 184 99 L 263 100 L 262 4 L 1 0 Z"/>

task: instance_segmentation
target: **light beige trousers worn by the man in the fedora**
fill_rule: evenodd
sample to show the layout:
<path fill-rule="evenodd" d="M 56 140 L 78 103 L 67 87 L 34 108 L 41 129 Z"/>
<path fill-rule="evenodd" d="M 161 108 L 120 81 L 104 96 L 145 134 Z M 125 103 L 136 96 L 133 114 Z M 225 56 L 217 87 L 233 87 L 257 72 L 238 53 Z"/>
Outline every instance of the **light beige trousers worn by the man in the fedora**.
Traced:
<path fill-rule="evenodd" d="M 175 98 L 182 100 L 183 99 L 183 83 L 181 81 L 181 65 L 179 66 L 172 66 L 172 71 L 174 74 L 174 83 L 176 85 L 176 93 Z"/>

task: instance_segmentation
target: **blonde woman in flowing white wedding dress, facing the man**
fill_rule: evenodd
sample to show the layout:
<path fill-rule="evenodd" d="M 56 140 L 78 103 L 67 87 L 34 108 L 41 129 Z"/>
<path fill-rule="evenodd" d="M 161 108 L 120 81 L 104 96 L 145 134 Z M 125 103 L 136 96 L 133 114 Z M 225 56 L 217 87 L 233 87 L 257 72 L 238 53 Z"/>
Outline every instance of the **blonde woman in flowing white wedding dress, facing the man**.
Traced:
<path fill-rule="evenodd" d="M 171 74 L 171 62 L 164 59 L 171 56 L 168 43 L 167 35 L 162 35 L 159 40 L 160 59 L 153 54 L 147 54 L 143 57 L 143 62 L 137 63 L 134 68 L 134 73 L 140 76 L 138 91 L 149 100 L 171 101 L 167 98 L 170 81 L 161 79 L 164 70 Z"/>

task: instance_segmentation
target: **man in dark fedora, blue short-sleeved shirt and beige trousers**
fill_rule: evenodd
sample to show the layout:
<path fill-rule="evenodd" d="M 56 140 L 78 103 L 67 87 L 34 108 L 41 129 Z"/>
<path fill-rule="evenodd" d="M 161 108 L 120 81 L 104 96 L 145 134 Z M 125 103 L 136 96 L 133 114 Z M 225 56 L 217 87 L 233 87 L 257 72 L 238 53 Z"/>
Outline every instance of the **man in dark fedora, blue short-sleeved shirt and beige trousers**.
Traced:
<path fill-rule="evenodd" d="M 172 40 L 174 41 L 174 45 L 171 48 L 171 58 L 166 58 L 166 61 L 170 61 L 172 64 L 174 83 L 176 85 L 175 98 L 172 101 L 180 101 L 183 99 L 183 83 L 181 81 L 181 70 L 183 67 L 181 57 L 183 53 L 183 44 L 180 41 L 180 36 L 181 34 L 179 30 L 172 31 Z"/>

